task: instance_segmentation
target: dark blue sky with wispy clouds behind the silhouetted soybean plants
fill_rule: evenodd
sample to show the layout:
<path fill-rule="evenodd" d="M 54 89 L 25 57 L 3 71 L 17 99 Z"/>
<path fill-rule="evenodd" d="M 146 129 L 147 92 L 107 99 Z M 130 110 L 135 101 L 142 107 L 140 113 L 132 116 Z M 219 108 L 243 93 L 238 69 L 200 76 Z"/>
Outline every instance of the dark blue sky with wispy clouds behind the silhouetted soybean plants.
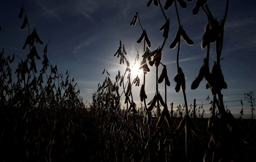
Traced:
<path fill-rule="evenodd" d="M 20 29 L 23 19 L 18 18 L 21 5 L 24 5 L 28 16 L 30 28 L 36 28 L 44 45 L 51 38 L 48 46 L 48 58 L 52 64 L 57 64 L 58 70 L 70 72 L 70 77 L 78 82 L 81 96 L 84 101 L 91 101 L 92 93 L 97 90 L 98 83 L 102 83 L 106 75 L 102 75 L 104 68 L 111 74 L 114 81 L 118 70 L 121 75 L 125 67 L 119 65 L 119 59 L 114 57 L 118 49 L 119 39 L 125 44 L 130 63 L 136 57 L 138 49 L 140 56 L 143 54 L 143 44 L 137 44 L 142 30 L 139 24 L 130 27 L 130 21 L 134 14 L 139 12 L 143 28 L 146 29 L 151 50 L 162 45 L 162 32 L 158 32 L 165 19 L 160 7 L 151 5 L 146 7 L 147 0 L 17 0 L 0 2 L 0 47 L 5 48 L 5 53 L 15 53 L 25 59 L 28 51 L 22 50 L 27 29 Z M 186 1 L 187 2 L 187 1 Z M 192 15 L 195 6 L 193 2 L 187 2 L 186 9 L 178 5 L 181 24 L 188 36 L 194 41 L 189 46 L 182 41 L 180 51 L 180 67 L 186 76 L 187 100 L 197 99 L 197 104 L 207 103 L 205 99 L 210 91 L 205 89 L 206 81 L 203 80 L 196 90 L 190 90 L 190 86 L 203 59 L 206 57 L 206 49 L 201 49 L 204 26 L 207 23 L 204 12 L 200 9 L 197 16 Z M 164 5 L 165 1 L 161 1 Z M 221 20 L 225 12 L 225 1 L 208 0 L 210 10 L 217 20 Z M 224 44 L 221 58 L 221 68 L 228 85 L 222 90 L 224 101 L 244 99 L 243 94 L 256 90 L 255 58 L 256 58 L 256 1 L 255 0 L 230 0 L 228 15 L 224 28 Z M 182 93 L 175 93 L 175 82 L 172 79 L 177 72 L 176 55 L 177 48 L 171 50 L 169 45 L 175 37 L 178 29 L 178 21 L 174 5 L 165 11 L 170 18 L 169 38 L 163 49 L 162 63 L 167 65 L 167 72 L 171 86 L 167 87 L 167 101 L 174 105 L 183 103 Z M 37 45 L 39 55 L 43 55 L 44 45 Z M 211 45 L 210 67 L 215 60 L 215 44 Z M 139 60 L 138 64 L 141 62 Z M 18 59 L 13 66 L 17 67 Z M 149 67 L 146 75 L 146 94 L 149 102 L 155 93 L 155 67 Z M 160 68 L 161 72 L 161 68 Z M 142 84 L 142 71 L 140 79 Z M 134 76 L 132 76 L 134 77 Z M 121 88 L 120 88 L 121 90 Z M 133 96 L 139 102 L 140 88 L 133 88 Z M 164 94 L 164 85 L 159 85 L 159 91 Z M 232 96 L 228 96 L 232 95 Z M 191 103 L 192 103 L 191 102 Z M 249 108 L 246 101 L 244 108 Z M 190 102 L 188 103 L 190 104 Z M 193 104 L 193 103 L 192 103 Z M 231 112 L 237 113 L 240 109 L 240 101 L 225 103 Z M 208 110 L 210 106 L 205 105 Z M 232 109 L 234 109 L 232 111 Z M 245 112 L 245 111 L 244 111 Z M 235 116 L 236 117 L 236 116 Z"/>

